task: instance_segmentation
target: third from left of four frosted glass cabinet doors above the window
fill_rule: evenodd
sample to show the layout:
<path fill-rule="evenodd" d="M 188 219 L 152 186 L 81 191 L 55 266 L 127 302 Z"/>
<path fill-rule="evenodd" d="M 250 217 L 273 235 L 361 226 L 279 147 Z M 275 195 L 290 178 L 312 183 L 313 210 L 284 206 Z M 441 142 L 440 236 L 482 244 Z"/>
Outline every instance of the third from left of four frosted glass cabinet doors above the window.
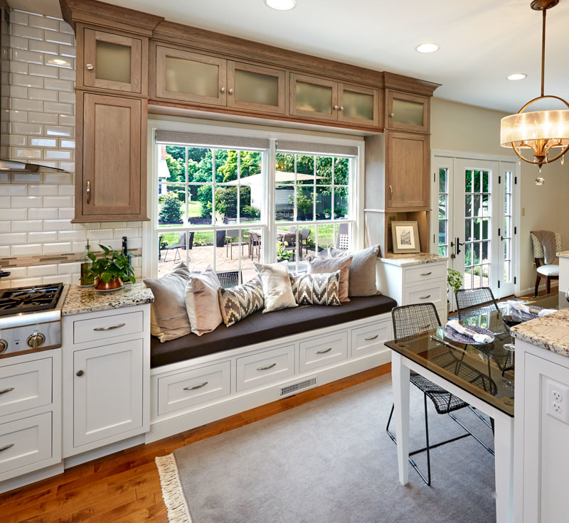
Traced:
<path fill-rule="evenodd" d="M 337 82 L 290 75 L 290 114 L 337 121 L 338 109 Z"/>

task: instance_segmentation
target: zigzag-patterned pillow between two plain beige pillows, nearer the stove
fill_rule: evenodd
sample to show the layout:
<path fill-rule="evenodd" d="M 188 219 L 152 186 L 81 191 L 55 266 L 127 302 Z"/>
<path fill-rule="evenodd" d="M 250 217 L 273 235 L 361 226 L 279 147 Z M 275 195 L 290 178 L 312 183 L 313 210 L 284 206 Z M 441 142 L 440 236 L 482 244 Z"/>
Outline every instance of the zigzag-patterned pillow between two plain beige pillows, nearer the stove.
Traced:
<path fill-rule="evenodd" d="M 252 313 L 260 311 L 265 306 L 260 278 L 248 281 L 246 284 L 218 289 L 219 308 L 223 323 L 230 327 Z"/>

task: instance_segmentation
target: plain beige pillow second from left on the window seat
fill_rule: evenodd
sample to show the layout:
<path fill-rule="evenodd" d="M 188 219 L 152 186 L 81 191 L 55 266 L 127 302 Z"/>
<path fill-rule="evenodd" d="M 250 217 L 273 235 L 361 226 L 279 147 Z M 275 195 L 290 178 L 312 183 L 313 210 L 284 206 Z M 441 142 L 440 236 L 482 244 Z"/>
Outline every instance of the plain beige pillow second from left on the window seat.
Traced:
<path fill-rule="evenodd" d="M 216 330 L 223 321 L 219 310 L 220 283 L 211 266 L 205 271 L 191 272 L 186 285 L 186 310 L 191 331 L 201 336 Z"/>

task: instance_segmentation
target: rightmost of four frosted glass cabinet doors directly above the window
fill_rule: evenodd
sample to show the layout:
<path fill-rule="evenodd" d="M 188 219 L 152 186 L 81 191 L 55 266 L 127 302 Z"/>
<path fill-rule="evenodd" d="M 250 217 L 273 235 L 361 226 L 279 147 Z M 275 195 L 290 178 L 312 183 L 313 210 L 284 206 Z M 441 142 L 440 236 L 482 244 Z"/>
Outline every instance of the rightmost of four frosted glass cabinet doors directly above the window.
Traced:
<path fill-rule="evenodd" d="M 376 89 L 339 84 L 338 119 L 353 124 L 379 125 L 379 92 Z"/>

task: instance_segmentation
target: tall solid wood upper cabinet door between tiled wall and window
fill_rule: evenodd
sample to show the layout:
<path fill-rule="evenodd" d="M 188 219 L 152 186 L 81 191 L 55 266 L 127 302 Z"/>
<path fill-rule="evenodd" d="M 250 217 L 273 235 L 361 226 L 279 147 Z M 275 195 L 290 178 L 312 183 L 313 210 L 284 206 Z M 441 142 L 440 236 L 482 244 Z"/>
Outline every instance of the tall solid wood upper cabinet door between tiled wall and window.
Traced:
<path fill-rule="evenodd" d="M 93 93 L 78 101 L 83 158 L 75 221 L 146 220 L 146 101 Z"/>

